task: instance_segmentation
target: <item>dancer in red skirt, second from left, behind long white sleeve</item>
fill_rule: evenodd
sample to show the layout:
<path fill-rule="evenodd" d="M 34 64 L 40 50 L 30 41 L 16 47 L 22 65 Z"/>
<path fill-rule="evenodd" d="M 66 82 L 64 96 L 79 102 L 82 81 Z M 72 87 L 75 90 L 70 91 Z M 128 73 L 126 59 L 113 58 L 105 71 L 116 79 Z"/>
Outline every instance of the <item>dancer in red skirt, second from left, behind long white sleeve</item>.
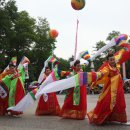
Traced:
<path fill-rule="evenodd" d="M 45 73 L 43 75 L 42 82 L 45 81 L 45 79 L 49 76 L 51 73 L 51 69 L 49 67 L 45 68 Z M 47 98 L 47 99 L 45 99 Z M 45 101 L 46 100 L 46 101 Z M 60 113 L 60 105 L 58 103 L 56 93 L 49 93 L 47 94 L 47 97 L 45 95 L 42 95 L 39 99 L 38 106 L 36 108 L 35 114 L 37 116 L 41 115 L 59 115 Z"/>

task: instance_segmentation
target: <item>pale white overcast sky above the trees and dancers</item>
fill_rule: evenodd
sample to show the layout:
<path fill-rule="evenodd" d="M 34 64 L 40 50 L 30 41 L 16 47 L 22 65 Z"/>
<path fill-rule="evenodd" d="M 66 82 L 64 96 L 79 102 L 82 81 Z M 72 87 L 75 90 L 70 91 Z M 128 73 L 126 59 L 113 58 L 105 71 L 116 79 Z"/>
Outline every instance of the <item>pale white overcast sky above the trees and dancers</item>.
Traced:
<path fill-rule="evenodd" d="M 71 0 L 16 2 L 19 11 L 26 10 L 34 18 L 47 18 L 50 27 L 59 32 L 54 53 L 64 59 L 74 54 L 77 19 L 77 54 L 86 49 L 92 53 L 92 46 L 100 40 L 105 41 L 113 30 L 130 35 L 130 0 L 86 0 L 80 11 L 71 7 Z"/>

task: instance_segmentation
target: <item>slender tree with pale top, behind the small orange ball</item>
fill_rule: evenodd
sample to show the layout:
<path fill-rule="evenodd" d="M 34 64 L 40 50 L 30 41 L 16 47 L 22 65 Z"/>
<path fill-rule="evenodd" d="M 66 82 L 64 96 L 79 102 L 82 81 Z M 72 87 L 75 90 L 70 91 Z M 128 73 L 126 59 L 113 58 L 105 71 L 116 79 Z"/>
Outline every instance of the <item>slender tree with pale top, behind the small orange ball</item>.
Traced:
<path fill-rule="evenodd" d="M 52 54 L 55 48 L 55 40 L 49 37 L 48 31 L 50 30 L 49 23 L 46 19 L 39 18 L 35 29 L 35 41 L 32 46 L 31 61 L 36 69 L 36 77 L 40 74 L 44 66 L 44 61 Z"/>

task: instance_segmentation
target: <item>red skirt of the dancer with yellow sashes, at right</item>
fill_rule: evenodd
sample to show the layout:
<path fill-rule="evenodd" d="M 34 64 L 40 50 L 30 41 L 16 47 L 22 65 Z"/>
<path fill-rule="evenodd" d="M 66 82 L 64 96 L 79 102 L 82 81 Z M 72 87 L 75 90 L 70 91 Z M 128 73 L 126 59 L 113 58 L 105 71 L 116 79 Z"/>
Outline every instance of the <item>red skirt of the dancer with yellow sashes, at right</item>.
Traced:
<path fill-rule="evenodd" d="M 96 107 L 94 110 L 90 111 L 87 115 L 89 118 L 90 123 L 94 123 L 97 125 L 101 125 L 105 122 L 127 122 L 126 116 L 126 103 L 124 97 L 124 90 L 122 87 L 122 82 L 119 81 L 119 86 L 117 88 L 117 95 L 116 95 L 116 103 L 114 108 L 110 109 L 111 103 L 111 89 L 109 89 L 108 93 L 104 97 L 104 99 L 100 102 L 97 102 Z"/>

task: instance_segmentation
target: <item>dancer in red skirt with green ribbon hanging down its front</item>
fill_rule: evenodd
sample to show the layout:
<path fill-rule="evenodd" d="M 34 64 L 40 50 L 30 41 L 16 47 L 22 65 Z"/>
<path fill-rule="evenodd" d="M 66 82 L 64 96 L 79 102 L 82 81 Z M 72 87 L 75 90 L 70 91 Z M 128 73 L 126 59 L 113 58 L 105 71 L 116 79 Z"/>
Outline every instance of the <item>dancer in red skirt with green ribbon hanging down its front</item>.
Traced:
<path fill-rule="evenodd" d="M 71 76 L 82 72 L 80 61 L 74 63 L 74 71 Z M 63 118 L 85 119 L 87 111 L 86 85 L 68 89 L 66 99 L 61 109 L 60 116 Z"/>

